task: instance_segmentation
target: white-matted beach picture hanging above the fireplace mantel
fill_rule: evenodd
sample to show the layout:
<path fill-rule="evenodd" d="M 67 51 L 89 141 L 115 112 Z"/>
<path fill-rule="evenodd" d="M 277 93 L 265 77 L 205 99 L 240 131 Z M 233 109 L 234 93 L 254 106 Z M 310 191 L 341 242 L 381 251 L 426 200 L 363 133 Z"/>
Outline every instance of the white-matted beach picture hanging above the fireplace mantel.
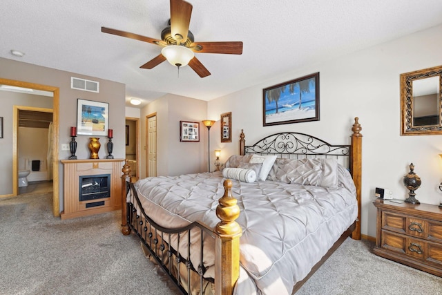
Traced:
<path fill-rule="evenodd" d="M 106 136 L 109 104 L 77 99 L 77 134 Z"/>

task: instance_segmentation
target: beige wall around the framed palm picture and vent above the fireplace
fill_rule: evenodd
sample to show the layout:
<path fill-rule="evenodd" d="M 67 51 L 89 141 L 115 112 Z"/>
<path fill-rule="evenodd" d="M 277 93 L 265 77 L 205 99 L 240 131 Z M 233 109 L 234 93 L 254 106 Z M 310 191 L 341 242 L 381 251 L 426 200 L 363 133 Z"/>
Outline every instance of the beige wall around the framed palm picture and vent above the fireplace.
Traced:
<path fill-rule="evenodd" d="M 99 93 L 88 91 L 78 91 L 70 88 L 70 77 L 79 77 L 90 79 L 100 83 Z M 115 158 L 124 158 L 125 155 L 125 86 L 124 84 L 98 79 L 77 73 L 69 73 L 63 70 L 55 70 L 43 66 L 26 64 L 12 59 L 0 58 L 0 77 L 35 84 L 55 86 L 59 88 L 59 160 L 67 159 L 70 156 L 69 151 L 61 151 L 61 144 L 70 142 L 70 126 L 76 126 L 77 122 L 77 99 L 93 100 L 95 102 L 109 103 L 109 128 L 113 129 Z M 0 117 L 12 113 L 12 109 L 1 108 Z M 12 122 L 3 122 L 7 130 L 12 132 Z M 8 134 L 11 134 L 7 131 Z M 7 133 L 5 133 L 6 135 Z M 6 142 L 6 141 L 2 141 Z M 77 137 L 77 157 L 79 159 L 89 158 L 88 136 L 79 135 Z M 101 137 L 102 148 L 99 150 L 99 158 L 106 157 L 106 137 Z M 2 143 L 3 144 L 3 143 Z M 12 159 L 12 153 L 5 155 L 6 159 Z M 11 160 L 12 161 L 12 160 Z M 63 166 L 59 164 L 59 198 L 60 210 L 63 209 Z"/>

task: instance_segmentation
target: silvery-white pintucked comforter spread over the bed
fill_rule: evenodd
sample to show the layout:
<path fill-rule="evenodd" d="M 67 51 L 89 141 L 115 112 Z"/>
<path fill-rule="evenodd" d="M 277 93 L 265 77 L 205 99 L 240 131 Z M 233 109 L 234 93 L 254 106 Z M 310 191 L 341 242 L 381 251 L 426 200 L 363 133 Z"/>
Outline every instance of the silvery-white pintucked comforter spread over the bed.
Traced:
<path fill-rule="evenodd" d="M 232 194 L 241 210 L 236 221 L 242 227 L 236 294 L 291 294 L 294 284 L 352 225 L 356 189 L 345 169 L 340 167 L 338 174 L 338 189 L 233 180 Z M 215 209 L 224 193 L 223 180 L 219 172 L 198 173 L 146 178 L 135 187 L 144 210 L 160 225 L 179 227 L 199 220 L 213 228 L 220 221 Z M 213 276 L 213 255 L 204 256 L 205 276 Z"/>

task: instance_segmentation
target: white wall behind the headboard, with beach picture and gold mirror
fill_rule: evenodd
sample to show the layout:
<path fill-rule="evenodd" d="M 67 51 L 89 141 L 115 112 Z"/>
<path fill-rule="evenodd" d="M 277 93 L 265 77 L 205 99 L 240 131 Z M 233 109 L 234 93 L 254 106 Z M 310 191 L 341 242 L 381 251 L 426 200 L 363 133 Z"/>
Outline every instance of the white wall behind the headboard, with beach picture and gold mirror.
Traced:
<path fill-rule="evenodd" d="M 266 83 L 214 99 L 209 117 L 217 117 L 211 149 L 222 149 L 221 160 L 238 153 L 240 129 L 247 144 L 263 135 L 298 131 L 323 138 L 331 144 L 349 144 L 354 117 L 363 134 L 362 234 L 376 236 L 375 187 L 387 187 L 396 198 L 406 198 L 402 184 L 411 162 L 421 177 L 416 190 L 421 202 L 439 204 L 442 192 L 442 139 L 438 135 L 400 136 L 399 75 L 442 65 L 442 26 L 416 32 L 330 61 L 311 64 Z M 296 58 L 296 57 L 292 57 Z M 296 77 L 320 72 L 320 121 L 262 126 L 262 88 Z M 220 142 L 220 114 L 232 112 L 233 142 Z M 215 135 L 216 134 L 216 135 Z"/>

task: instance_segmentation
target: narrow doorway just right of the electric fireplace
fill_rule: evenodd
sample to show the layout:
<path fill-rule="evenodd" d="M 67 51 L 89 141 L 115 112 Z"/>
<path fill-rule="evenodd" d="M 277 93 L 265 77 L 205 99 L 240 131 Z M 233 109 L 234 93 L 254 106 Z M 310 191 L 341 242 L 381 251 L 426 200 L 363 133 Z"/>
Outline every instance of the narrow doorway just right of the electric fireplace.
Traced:
<path fill-rule="evenodd" d="M 133 180 L 140 179 L 140 118 L 126 117 L 126 160 Z"/>

